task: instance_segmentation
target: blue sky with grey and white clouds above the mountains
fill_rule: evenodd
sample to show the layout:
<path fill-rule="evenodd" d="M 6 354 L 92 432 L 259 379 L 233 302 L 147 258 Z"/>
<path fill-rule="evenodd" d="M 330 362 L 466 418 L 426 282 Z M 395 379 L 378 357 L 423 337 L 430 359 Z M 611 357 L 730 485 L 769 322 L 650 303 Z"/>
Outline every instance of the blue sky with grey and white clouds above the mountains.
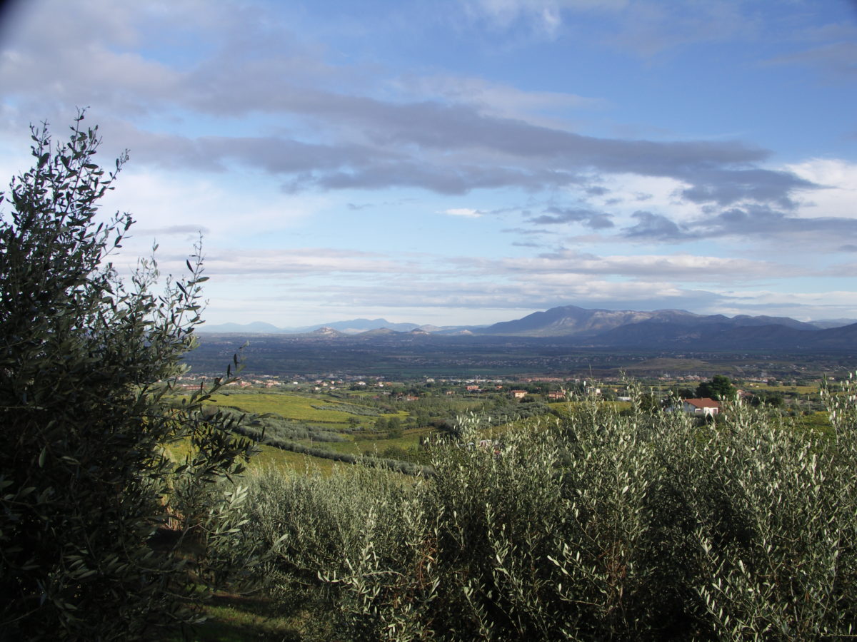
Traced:
<path fill-rule="evenodd" d="M 848 0 L 27 0 L 0 87 L 3 183 L 86 108 L 208 324 L 857 318 Z"/>

